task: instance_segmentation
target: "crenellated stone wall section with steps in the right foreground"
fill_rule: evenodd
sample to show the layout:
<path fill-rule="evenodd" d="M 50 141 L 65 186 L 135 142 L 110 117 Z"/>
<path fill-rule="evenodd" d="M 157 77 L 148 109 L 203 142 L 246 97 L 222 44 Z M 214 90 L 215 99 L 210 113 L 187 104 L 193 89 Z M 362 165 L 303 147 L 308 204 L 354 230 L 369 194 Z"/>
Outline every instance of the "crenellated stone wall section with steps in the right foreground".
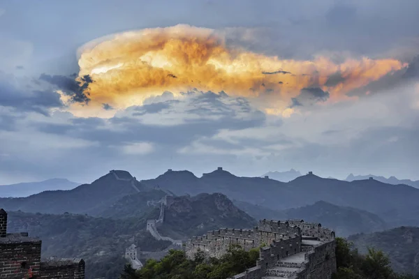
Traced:
<path fill-rule="evenodd" d="M 304 220 L 260 220 L 253 229 L 217 229 L 186 242 L 186 257 L 196 252 L 222 257 L 231 245 L 259 248 L 256 266 L 233 278 L 331 278 L 336 271 L 335 232 Z"/>

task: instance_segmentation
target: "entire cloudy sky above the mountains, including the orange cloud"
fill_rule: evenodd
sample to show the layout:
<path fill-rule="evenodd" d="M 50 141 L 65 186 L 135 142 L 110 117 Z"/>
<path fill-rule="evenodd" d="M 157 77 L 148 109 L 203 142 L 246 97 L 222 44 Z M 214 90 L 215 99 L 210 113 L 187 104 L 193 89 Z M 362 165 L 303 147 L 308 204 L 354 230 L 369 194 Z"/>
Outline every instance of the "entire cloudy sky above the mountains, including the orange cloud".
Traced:
<path fill-rule="evenodd" d="M 419 179 L 419 2 L 0 0 L 0 185 Z"/>

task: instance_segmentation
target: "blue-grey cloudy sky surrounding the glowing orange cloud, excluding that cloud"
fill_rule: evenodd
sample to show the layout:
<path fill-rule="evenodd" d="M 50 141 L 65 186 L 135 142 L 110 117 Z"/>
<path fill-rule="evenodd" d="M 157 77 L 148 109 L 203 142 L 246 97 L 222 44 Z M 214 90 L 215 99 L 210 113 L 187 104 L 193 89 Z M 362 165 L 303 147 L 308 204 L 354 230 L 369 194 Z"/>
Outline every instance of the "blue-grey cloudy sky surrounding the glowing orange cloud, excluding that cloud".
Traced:
<path fill-rule="evenodd" d="M 141 178 L 165 168 L 200 174 L 219 165 L 240 175 L 295 167 L 324 176 L 374 172 L 419 179 L 419 61 L 413 59 L 419 50 L 419 1 L 124 3 L 117 10 L 110 0 L 45 0 L 27 2 L 25 9 L 15 1 L 3 3 L 0 70 L 15 75 L 0 73 L 0 183 L 52 176 L 89 181 L 117 168 Z M 370 56 L 413 62 L 405 73 L 352 91 L 358 101 L 324 105 L 327 91 L 303 89 L 289 100 L 296 113 L 288 119 L 265 115 L 252 105 L 258 100 L 198 91 L 179 99 L 165 92 L 124 111 L 102 104 L 116 112 L 111 119 L 61 111 L 57 89 L 73 102 L 89 101 L 91 78 L 79 83 L 68 75 L 78 71 L 78 46 L 122 30 L 179 23 L 221 29 L 228 45 L 280 59 L 323 55 L 339 63 Z M 284 68 L 265 74 L 277 74 L 281 83 L 291 73 Z M 37 78 L 22 82 L 24 75 Z M 326 85 L 343 80 L 337 72 Z"/>

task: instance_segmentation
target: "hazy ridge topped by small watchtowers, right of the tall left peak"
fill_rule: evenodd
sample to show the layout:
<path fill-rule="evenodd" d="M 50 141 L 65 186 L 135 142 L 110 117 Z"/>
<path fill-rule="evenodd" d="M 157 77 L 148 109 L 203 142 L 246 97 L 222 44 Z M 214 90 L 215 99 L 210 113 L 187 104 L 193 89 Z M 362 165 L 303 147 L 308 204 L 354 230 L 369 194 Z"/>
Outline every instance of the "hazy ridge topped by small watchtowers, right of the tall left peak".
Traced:
<path fill-rule="evenodd" d="M 240 177 L 219 168 L 198 178 L 188 171 L 168 171 L 156 179 L 141 181 L 175 195 L 223 193 L 233 200 L 268 209 L 284 210 L 318 201 L 350 206 L 383 218 L 392 227 L 418 225 L 419 190 L 374 179 L 340 181 L 309 173 L 284 183 L 270 178 Z"/>

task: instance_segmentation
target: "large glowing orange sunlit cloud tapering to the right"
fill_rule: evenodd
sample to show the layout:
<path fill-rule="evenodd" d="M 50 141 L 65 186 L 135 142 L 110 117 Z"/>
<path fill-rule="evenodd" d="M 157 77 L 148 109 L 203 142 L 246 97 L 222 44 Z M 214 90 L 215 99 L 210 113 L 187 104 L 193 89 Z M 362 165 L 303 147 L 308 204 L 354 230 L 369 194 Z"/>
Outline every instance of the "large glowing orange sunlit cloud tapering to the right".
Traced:
<path fill-rule="evenodd" d="M 330 92 L 331 101 L 338 101 L 348 91 L 404 67 L 394 59 L 334 63 L 326 57 L 298 61 L 265 56 L 228 47 L 213 29 L 187 25 L 118 33 L 79 52 L 79 76 L 94 80 L 89 84 L 91 103 L 117 108 L 140 105 L 166 90 L 176 95 L 193 88 L 249 98 L 269 93 L 270 100 L 284 104 L 300 89 L 320 86 Z M 339 81 L 328 83 L 337 73 Z"/>

